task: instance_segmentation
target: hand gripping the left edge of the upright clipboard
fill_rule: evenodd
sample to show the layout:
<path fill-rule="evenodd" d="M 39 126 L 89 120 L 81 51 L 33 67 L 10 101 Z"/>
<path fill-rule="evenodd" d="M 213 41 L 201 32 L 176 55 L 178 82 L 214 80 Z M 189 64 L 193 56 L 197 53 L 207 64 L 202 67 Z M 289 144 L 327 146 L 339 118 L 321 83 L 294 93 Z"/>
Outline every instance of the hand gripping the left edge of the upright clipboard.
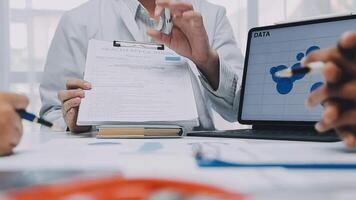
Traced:
<path fill-rule="evenodd" d="M 62 103 L 63 118 L 69 130 L 73 133 L 90 131 L 91 126 L 77 126 L 77 118 L 81 100 L 85 97 L 84 90 L 90 90 L 91 84 L 84 80 L 71 79 L 67 81 L 66 88 L 58 93 L 58 98 Z"/>

